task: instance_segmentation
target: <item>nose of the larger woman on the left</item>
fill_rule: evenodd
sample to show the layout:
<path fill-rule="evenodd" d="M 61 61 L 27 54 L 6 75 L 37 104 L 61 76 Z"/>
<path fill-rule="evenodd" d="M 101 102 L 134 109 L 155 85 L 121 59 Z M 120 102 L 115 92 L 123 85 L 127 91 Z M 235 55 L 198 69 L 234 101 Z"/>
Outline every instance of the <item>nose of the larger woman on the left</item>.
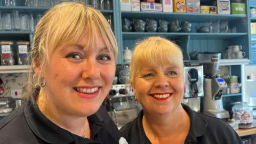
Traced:
<path fill-rule="evenodd" d="M 97 65 L 96 60 L 87 59 L 83 65 L 82 78 L 90 78 L 92 80 L 97 80 L 100 78 L 100 69 Z"/>

